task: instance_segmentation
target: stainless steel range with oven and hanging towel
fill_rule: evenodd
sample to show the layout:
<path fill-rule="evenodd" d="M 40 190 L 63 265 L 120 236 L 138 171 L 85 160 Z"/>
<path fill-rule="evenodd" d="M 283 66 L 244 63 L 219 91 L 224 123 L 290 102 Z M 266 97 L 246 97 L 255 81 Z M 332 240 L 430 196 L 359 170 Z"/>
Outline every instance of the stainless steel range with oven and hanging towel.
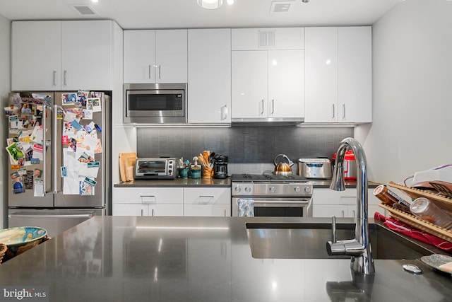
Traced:
<path fill-rule="evenodd" d="M 254 216 L 312 216 L 311 182 L 299 175 L 232 174 L 232 216 L 252 200 Z"/>

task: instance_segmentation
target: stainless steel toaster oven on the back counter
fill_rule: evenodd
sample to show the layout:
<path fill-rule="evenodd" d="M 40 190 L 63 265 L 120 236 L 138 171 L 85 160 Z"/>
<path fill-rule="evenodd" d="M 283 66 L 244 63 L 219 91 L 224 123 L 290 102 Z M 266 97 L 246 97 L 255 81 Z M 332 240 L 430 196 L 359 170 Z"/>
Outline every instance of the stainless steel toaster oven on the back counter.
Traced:
<path fill-rule="evenodd" d="M 138 158 L 135 163 L 135 179 L 174 179 L 176 170 L 176 158 Z"/>

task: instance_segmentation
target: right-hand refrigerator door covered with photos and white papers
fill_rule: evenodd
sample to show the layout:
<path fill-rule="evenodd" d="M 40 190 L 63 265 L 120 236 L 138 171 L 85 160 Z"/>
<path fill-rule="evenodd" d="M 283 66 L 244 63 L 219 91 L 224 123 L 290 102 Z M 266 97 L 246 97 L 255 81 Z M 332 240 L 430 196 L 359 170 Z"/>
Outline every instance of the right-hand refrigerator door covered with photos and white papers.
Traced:
<path fill-rule="evenodd" d="M 94 95 L 88 95 L 88 101 L 85 104 L 73 105 L 66 102 L 66 95 L 68 94 L 55 93 L 55 104 L 59 108 L 63 108 L 66 115 L 61 120 L 57 120 L 55 117 L 53 119 L 56 125 L 54 127 L 54 141 L 57 141 L 53 150 L 56 156 L 52 158 L 54 188 L 56 189 L 54 204 L 58 208 L 102 208 L 106 206 L 110 190 L 110 98 L 102 93 L 100 94 L 100 103 L 87 106 L 90 97 L 94 97 Z M 90 110 L 90 112 L 85 112 L 85 115 L 82 115 L 78 124 L 76 124 L 76 127 L 84 127 L 85 129 L 74 129 L 74 126 L 70 124 L 71 122 L 68 122 L 71 118 L 67 116 L 74 114 L 74 112 L 78 115 L 77 110 Z M 76 139 L 76 144 L 71 143 L 72 138 Z M 93 145 L 93 141 L 100 141 L 100 145 Z M 100 149 L 98 146 L 100 146 Z M 91 158 L 94 158 L 92 163 L 95 163 L 98 167 L 91 166 L 89 168 L 92 163 L 85 163 L 83 158 L 86 157 L 90 157 L 90 161 L 92 161 Z M 63 170 L 66 175 L 63 175 L 62 167 L 64 167 Z M 87 185 L 91 180 L 95 182 L 94 185 Z"/>

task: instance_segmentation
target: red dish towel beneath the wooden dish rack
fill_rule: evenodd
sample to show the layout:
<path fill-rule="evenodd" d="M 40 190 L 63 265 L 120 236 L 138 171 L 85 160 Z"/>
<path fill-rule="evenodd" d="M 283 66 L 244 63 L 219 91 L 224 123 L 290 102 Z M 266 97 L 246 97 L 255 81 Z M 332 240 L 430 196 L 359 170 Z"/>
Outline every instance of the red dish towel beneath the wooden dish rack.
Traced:
<path fill-rule="evenodd" d="M 379 221 L 383 221 L 383 224 L 391 230 L 396 231 L 398 233 L 402 233 L 405 236 L 409 236 L 411 238 L 415 238 L 424 243 L 428 243 L 436 246 L 436 248 L 441 248 L 441 250 L 446 250 L 447 252 L 452 252 L 452 243 L 447 240 L 441 239 L 437 236 L 431 235 L 429 233 L 425 233 L 424 231 L 420 231 L 417 228 L 410 226 L 407 223 L 403 223 L 402 221 L 385 217 L 379 212 L 375 212 L 374 219 L 378 219 Z"/>

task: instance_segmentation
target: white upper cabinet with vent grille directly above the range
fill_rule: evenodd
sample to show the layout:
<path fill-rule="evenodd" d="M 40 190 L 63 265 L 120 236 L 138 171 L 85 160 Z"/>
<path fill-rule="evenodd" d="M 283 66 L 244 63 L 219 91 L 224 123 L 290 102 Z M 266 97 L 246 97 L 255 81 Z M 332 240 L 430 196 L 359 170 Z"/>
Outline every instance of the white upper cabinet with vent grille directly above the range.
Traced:
<path fill-rule="evenodd" d="M 302 120 L 304 28 L 232 30 L 232 122 Z"/>

